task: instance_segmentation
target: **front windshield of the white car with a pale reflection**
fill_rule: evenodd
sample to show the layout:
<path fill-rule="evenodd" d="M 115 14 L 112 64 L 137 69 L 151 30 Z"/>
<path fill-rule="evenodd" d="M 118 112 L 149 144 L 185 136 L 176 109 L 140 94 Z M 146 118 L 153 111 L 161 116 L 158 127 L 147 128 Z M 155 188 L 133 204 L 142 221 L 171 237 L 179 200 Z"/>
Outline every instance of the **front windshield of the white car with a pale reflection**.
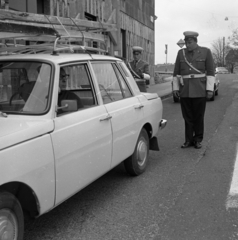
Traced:
<path fill-rule="evenodd" d="M 0 111 L 42 114 L 49 102 L 51 66 L 42 62 L 0 61 Z"/>

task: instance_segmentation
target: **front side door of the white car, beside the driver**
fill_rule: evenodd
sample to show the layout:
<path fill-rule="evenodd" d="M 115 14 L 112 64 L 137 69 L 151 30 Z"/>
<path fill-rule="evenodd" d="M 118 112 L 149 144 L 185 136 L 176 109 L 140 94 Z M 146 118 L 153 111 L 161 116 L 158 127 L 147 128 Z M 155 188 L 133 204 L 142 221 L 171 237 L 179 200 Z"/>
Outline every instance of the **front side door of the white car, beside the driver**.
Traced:
<path fill-rule="evenodd" d="M 64 71 L 69 76 L 67 91 L 81 100 L 92 97 L 94 104 L 63 111 L 54 119 L 56 204 L 107 172 L 112 154 L 111 123 L 105 107 L 97 104 L 87 65 L 64 66 Z"/>

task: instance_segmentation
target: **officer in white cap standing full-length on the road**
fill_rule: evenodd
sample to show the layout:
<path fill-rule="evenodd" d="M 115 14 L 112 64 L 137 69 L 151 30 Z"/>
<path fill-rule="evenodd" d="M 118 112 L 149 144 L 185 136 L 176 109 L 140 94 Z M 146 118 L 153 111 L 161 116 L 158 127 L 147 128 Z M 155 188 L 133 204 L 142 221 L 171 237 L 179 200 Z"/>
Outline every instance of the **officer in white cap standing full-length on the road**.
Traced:
<path fill-rule="evenodd" d="M 213 96 L 214 66 L 210 49 L 197 44 L 197 32 L 183 33 L 186 49 L 177 54 L 173 72 L 173 94 L 180 97 L 185 121 L 185 143 L 182 148 L 202 147 L 206 100 Z"/>

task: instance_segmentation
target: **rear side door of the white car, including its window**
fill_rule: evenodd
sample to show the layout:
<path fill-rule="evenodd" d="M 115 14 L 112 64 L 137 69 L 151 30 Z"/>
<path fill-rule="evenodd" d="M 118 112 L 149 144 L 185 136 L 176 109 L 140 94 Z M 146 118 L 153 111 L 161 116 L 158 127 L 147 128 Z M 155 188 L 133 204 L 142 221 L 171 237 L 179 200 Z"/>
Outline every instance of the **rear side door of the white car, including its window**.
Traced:
<path fill-rule="evenodd" d="M 100 93 L 111 116 L 113 154 L 111 167 L 130 156 L 143 122 L 143 105 L 132 91 L 115 63 L 93 62 Z"/>

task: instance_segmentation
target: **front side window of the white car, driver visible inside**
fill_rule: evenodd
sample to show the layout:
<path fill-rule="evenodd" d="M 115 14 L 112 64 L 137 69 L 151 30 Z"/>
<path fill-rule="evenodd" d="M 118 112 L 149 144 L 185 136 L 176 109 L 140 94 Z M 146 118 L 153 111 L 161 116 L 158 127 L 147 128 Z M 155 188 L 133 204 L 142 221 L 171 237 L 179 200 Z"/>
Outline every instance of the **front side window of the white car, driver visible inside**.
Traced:
<path fill-rule="evenodd" d="M 86 64 L 60 68 L 58 115 L 96 106 L 94 88 Z"/>

